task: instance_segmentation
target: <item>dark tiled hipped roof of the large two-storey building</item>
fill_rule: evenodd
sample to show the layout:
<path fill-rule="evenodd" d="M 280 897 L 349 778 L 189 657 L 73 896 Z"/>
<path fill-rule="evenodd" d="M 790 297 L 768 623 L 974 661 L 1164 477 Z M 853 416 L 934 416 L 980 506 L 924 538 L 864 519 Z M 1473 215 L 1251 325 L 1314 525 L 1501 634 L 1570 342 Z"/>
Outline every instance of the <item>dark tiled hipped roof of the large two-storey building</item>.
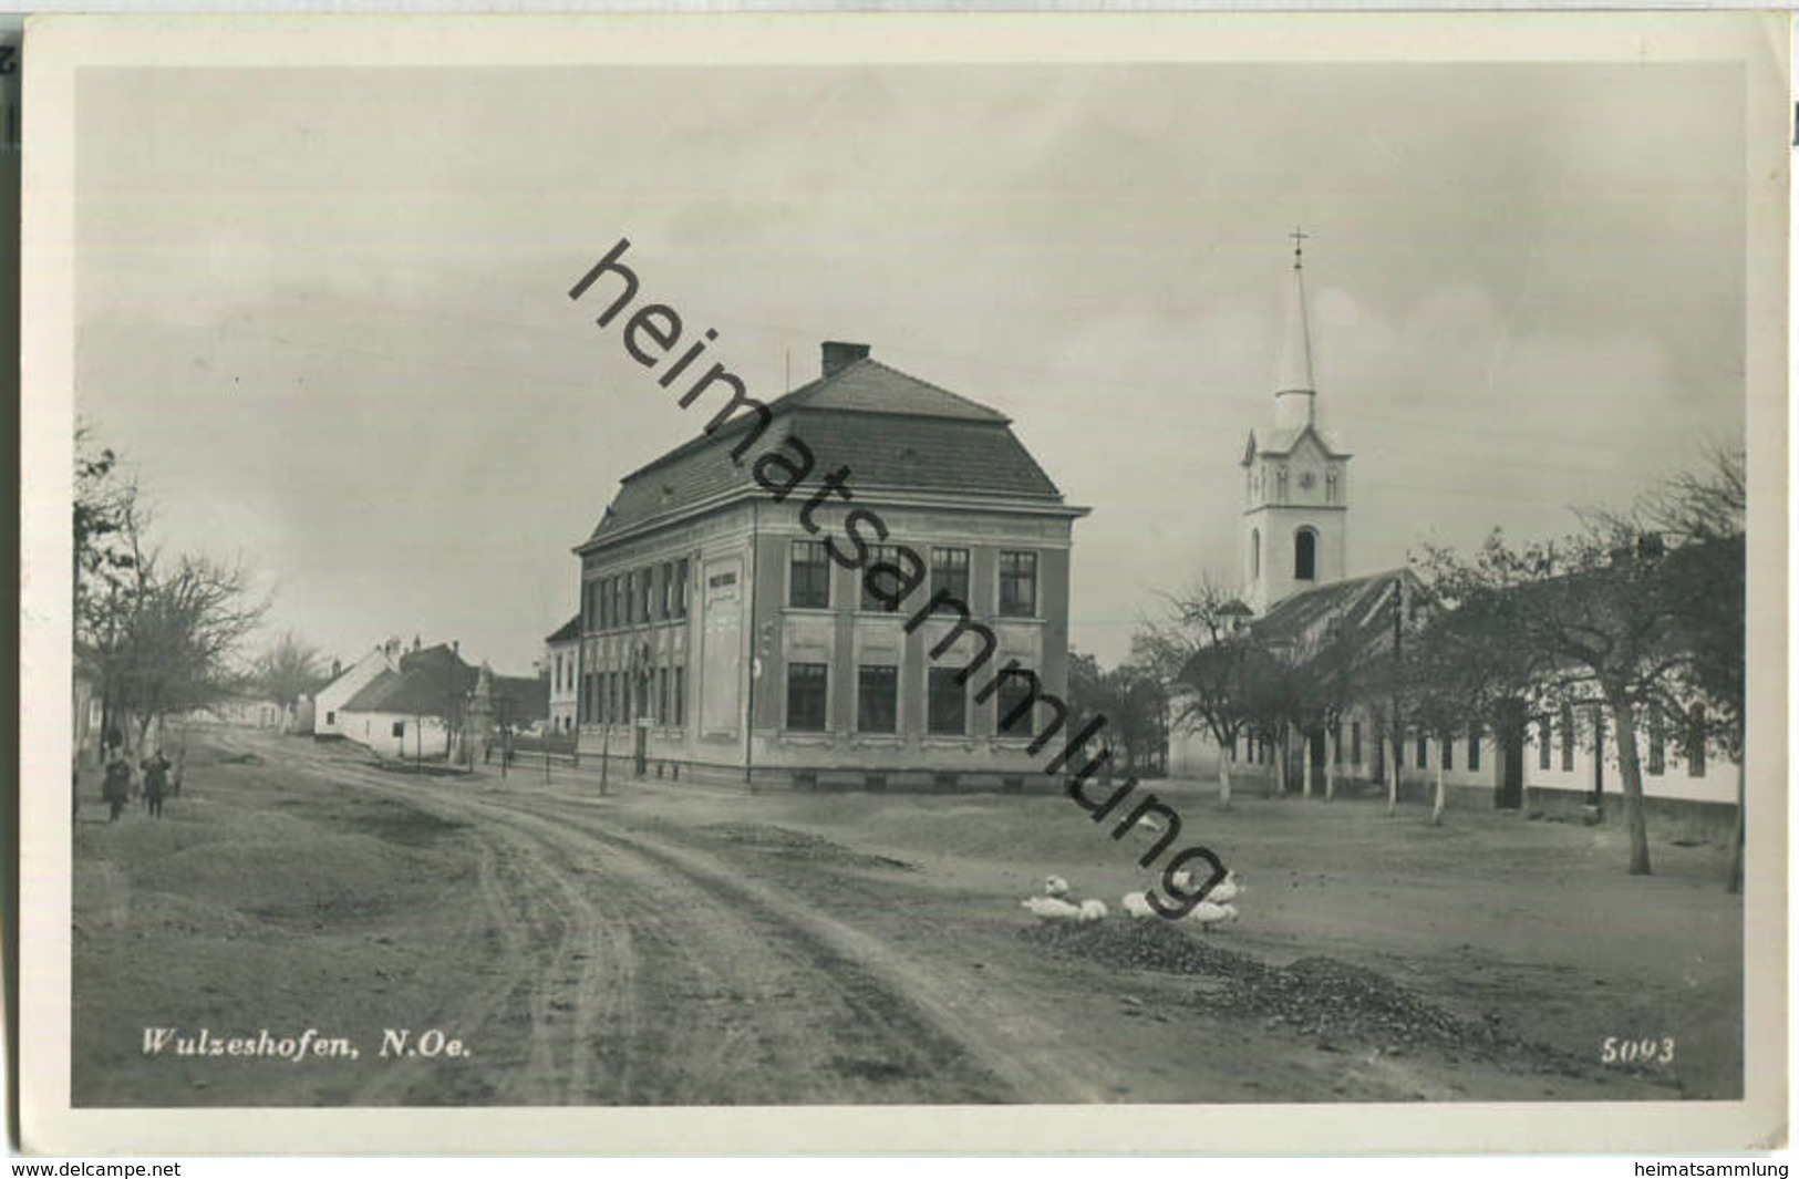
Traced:
<path fill-rule="evenodd" d="M 1063 502 L 1011 432 L 1009 418 L 867 356 L 770 401 L 768 412 L 770 425 L 743 463 L 732 461 L 730 450 L 754 428 L 748 412 L 626 475 L 586 544 L 721 497 L 766 495 L 748 459 L 783 448 L 786 439 L 802 441 L 815 455 L 817 473 L 808 482 L 847 466 L 851 491 Z M 784 454 L 797 452 L 786 446 Z"/>

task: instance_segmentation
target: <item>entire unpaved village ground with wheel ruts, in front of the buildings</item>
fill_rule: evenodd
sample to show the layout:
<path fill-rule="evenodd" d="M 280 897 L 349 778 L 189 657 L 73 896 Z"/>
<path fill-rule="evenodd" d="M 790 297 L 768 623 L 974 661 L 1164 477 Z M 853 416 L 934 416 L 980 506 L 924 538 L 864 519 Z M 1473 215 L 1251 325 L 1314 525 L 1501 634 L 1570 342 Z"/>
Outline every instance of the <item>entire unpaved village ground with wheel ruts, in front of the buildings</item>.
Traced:
<path fill-rule="evenodd" d="M 1659 846 L 1630 878 L 1587 828 L 1218 814 L 1177 785 L 1250 886 L 1243 920 L 1045 931 L 1018 909 L 1045 871 L 1114 909 L 1148 882 L 1056 797 L 599 797 L 214 736 L 162 823 L 90 801 L 76 824 L 77 1105 L 1740 1093 L 1741 916 L 1713 850 Z M 146 1055 L 146 1028 L 313 1028 L 358 1055 Z M 383 1058 L 389 1030 L 414 1053 Z M 419 1055 L 426 1030 L 466 1055 Z M 1605 1066 L 1607 1035 L 1673 1060 Z"/>

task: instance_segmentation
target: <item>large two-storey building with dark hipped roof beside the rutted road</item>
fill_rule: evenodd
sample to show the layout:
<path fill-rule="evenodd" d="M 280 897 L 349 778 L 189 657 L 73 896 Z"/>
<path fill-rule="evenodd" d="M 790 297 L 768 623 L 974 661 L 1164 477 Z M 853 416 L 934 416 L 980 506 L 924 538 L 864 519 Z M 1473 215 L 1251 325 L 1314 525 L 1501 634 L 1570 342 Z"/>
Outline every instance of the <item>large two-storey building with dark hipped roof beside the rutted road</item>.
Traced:
<path fill-rule="evenodd" d="M 822 360 L 766 421 L 739 414 L 630 473 L 576 547 L 581 756 L 752 785 L 1043 778 L 1052 751 L 1029 745 L 1051 709 L 998 671 L 1065 695 L 1087 509 L 1004 414 L 865 346 Z M 783 495 L 797 457 L 815 464 Z M 865 576 L 880 565 L 914 576 Z M 939 592 L 966 619 L 926 610 Z"/>

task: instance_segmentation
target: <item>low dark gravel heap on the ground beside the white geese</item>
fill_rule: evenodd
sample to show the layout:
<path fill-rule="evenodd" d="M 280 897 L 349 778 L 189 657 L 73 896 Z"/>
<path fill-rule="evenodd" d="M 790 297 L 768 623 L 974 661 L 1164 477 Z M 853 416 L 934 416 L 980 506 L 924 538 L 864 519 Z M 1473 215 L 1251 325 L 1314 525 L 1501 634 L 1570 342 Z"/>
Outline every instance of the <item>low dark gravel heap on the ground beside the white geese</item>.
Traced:
<path fill-rule="evenodd" d="M 1569 1071 L 1554 1049 L 1508 1035 L 1499 1019 L 1468 1021 L 1400 986 L 1387 976 L 1335 958 L 1302 958 L 1272 967 L 1238 950 L 1207 945 L 1169 922 L 1036 923 L 1020 931 L 1052 952 L 1106 967 L 1204 977 L 1195 994 L 1209 1012 L 1258 1017 L 1268 1030 L 1315 1037 L 1320 1048 L 1344 1044 L 1403 1055 L 1434 1048 L 1454 1055 L 1529 1057 L 1545 1071 Z"/>

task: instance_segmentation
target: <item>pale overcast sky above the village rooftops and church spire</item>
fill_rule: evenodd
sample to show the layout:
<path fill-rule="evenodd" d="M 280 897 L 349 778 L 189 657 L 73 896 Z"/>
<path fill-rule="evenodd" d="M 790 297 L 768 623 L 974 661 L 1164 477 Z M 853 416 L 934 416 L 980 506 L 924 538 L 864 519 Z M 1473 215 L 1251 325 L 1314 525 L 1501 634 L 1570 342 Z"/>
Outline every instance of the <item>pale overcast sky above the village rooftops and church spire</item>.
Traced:
<path fill-rule="evenodd" d="M 1072 643 L 1231 574 L 1295 223 L 1349 569 L 1540 536 L 1743 434 L 1741 74 L 1673 65 L 88 70 L 77 410 L 272 623 L 524 671 L 691 436 L 568 286 L 757 396 L 862 340 L 1076 524 Z M 592 297 L 588 299 L 592 302 Z"/>

